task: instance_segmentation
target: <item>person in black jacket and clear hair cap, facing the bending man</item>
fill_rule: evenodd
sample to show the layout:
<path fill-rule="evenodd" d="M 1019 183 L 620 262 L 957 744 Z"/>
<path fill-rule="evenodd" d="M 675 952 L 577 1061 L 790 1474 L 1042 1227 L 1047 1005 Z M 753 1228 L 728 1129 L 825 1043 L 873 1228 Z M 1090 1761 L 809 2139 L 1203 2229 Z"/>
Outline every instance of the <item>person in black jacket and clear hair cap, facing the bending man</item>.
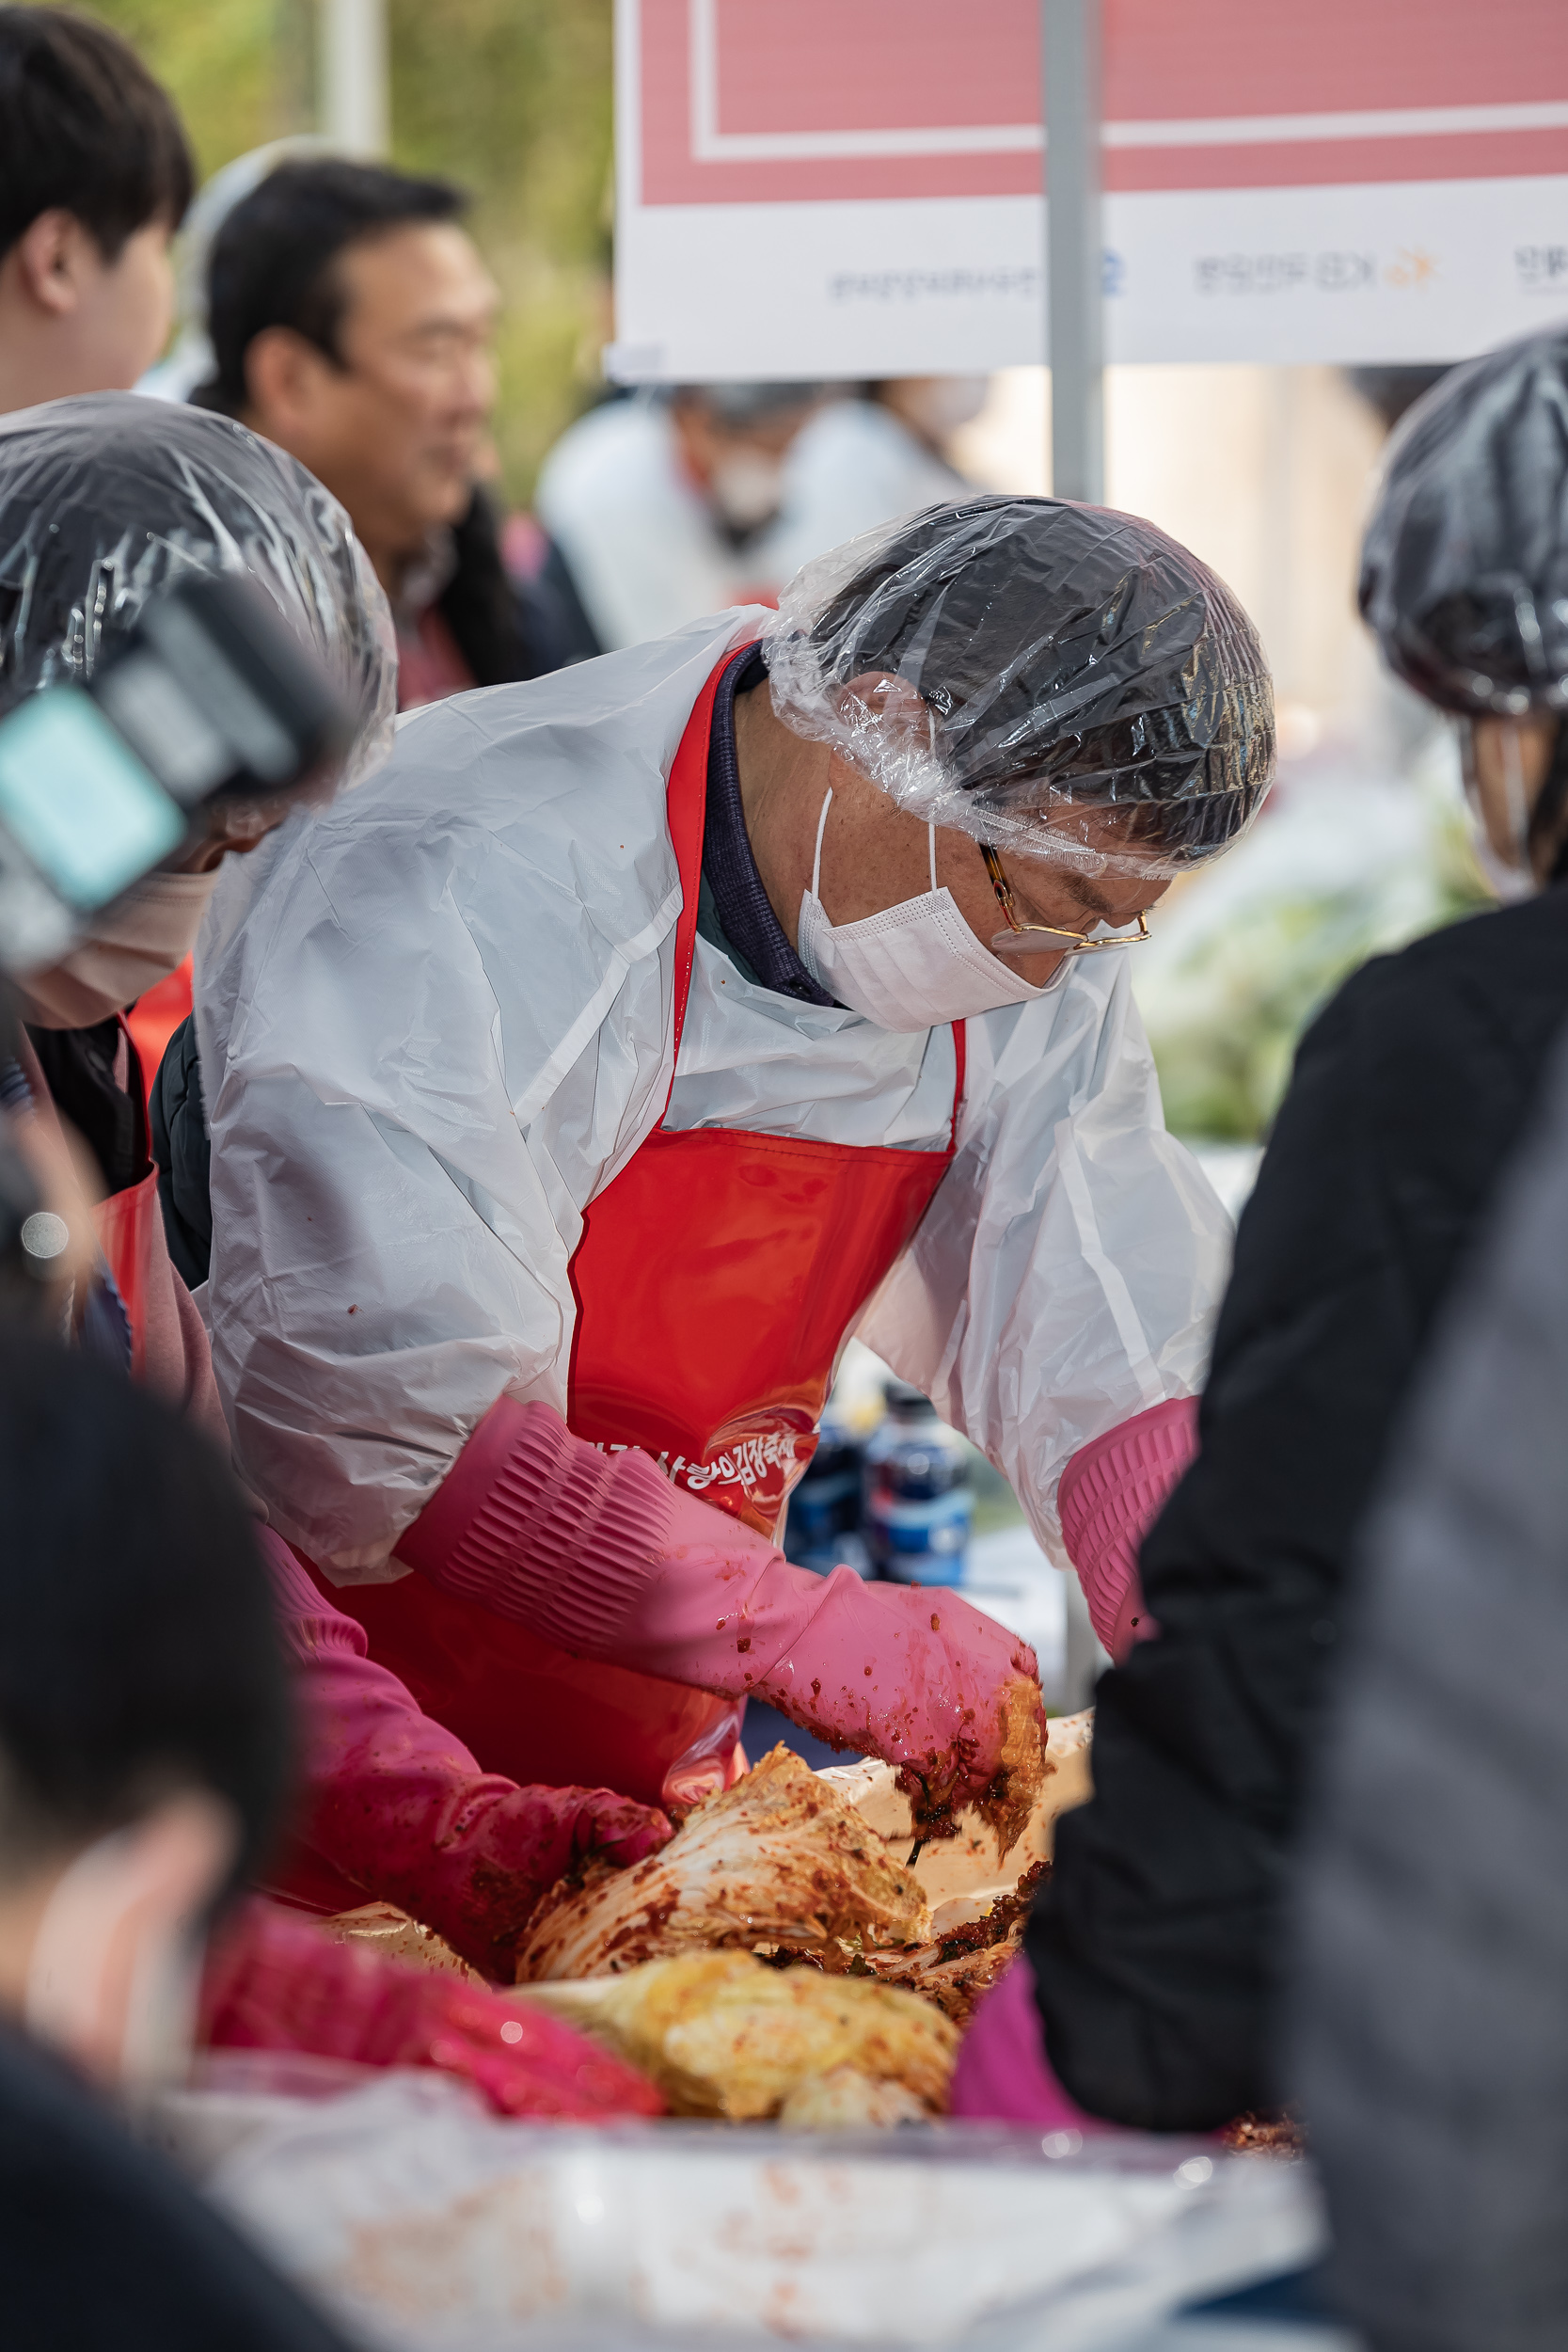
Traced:
<path fill-rule="evenodd" d="M 1159 1639 L 1100 1682 L 954 2112 L 1154 2131 L 1284 2096 L 1284 1896 L 1354 1536 L 1568 1016 L 1568 334 L 1453 369 L 1389 442 L 1361 612 L 1460 729 L 1505 901 L 1305 1035 L 1241 1216 L 1199 1454 L 1143 1543 Z M 1086 2112 L 1084 2112 L 1086 2110 Z"/>

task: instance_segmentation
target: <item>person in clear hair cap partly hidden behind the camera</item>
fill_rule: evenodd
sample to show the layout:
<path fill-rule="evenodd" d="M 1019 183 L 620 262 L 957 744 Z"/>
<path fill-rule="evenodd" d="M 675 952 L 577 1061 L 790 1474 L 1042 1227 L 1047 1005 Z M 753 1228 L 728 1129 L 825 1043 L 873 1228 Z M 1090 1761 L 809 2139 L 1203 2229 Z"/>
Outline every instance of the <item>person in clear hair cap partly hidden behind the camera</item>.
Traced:
<path fill-rule="evenodd" d="M 390 628 L 320 482 L 223 419 L 132 393 L 0 419 L 0 715 L 40 687 L 89 677 L 146 600 L 190 569 L 244 572 L 270 597 L 362 720 L 350 779 L 374 764 L 390 739 Z M 108 1190 L 99 1232 L 132 1359 L 174 1402 L 193 1404 L 202 1388 L 219 1421 L 205 1334 L 169 1279 L 146 1091 L 120 1011 L 190 953 L 223 856 L 254 849 L 282 814 L 226 802 L 216 830 L 21 990 L 33 1091 L 85 1138 Z M 172 1190 L 165 1181 L 176 1258 L 200 1282 Z"/>

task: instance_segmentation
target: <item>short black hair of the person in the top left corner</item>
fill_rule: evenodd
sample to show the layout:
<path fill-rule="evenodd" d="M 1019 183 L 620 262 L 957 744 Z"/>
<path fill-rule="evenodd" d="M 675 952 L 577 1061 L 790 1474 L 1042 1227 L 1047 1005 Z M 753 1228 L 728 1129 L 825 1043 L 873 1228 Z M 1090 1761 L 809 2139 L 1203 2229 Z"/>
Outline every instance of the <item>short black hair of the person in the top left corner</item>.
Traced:
<path fill-rule="evenodd" d="M 103 256 L 186 216 L 195 165 L 174 101 L 129 42 L 63 7 L 0 7 L 0 254 L 71 212 Z"/>

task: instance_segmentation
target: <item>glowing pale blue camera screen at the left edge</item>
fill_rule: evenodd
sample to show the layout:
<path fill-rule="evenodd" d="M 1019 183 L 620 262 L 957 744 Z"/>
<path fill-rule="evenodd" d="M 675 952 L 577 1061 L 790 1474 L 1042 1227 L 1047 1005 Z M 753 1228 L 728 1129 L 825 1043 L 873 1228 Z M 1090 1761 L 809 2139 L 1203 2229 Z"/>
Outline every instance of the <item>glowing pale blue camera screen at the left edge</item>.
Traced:
<path fill-rule="evenodd" d="M 0 823 L 75 908 L 106 906 L 186 837 L 186 816 L 75 687 L 0 727 Z"/>

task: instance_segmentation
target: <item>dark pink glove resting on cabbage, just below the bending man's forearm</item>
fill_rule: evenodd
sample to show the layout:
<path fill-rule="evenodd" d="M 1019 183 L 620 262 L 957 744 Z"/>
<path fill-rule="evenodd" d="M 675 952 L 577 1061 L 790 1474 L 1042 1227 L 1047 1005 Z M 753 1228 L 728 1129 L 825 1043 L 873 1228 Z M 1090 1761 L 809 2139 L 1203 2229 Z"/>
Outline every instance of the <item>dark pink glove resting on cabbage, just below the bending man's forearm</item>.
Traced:
<path fill-rule="evenodd" d="M 670 1837 L 663 1813 L 607 1788 L 517 1788 L 364 1653 L 273 1529 L 259 1529 L 306 1717 L 294 1839 L 367 1900 L 397 1903 L 487 1976 L 538 1898 L 585 1853 L 630 1865 Z"/>

